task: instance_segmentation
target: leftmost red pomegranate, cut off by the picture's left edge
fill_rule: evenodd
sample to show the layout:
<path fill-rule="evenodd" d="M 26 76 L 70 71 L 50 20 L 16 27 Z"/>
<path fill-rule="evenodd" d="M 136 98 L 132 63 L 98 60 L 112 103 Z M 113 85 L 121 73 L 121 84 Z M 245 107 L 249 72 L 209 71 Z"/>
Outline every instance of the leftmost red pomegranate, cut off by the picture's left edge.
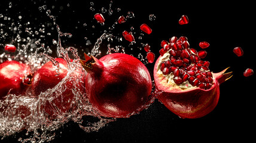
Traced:
<path fill-rule="evenodd" d="M 0 64 L 0 100 L 9 92 L 25 94 L 28 86 L 23 84 L 23 78 L 30 73 L 30 67 L 18 61 L 5 61 Z"/>

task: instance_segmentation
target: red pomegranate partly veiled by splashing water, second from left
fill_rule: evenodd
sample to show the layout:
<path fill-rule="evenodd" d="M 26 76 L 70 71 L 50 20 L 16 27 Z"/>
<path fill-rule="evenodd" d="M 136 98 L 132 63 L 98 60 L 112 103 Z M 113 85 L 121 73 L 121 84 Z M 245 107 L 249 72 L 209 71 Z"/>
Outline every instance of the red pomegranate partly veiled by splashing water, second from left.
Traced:
<path fill-rule="evenodd" d="M 57 73 L 57 67 L 53 65 L 53 62 L 48 61 L 45 63 L 40 69 L 35 71 L 33 74 L 32 84 L 31 84 L 31 92 L 32 95 L 37 97 L 41 92 L 47 91 L 47 89 L 54 88 L 66 75 L 68 74 L 68 65 L 63 58 L 55 58 L 57 63 L 59 63 L 59 72 Z M 74 74 L 81 78 L 81 81 L 84 81 L 85 74 L 81 70 L 77 70 L 77 73 Z M 73 77 L 73 78 L 77 78 Z M 83 83 L 81 85 L 77 85 L 80 91 L 84 91 Z M 42 104 L 41 109 L 44 110 L 44 113 L 50 119 L 55 119 L 56 114 L 68 113 L 69 110 L 72 110 L 72 100 L 74 98 L 74 94 L 72 93 L 72 81 L 68 81 L 63 85 L 63 91 L 61 95 L 57 95 L 56 92 L 53 92 L 50 95 L 52 100 L 47 100 L 44 104 Z"/>

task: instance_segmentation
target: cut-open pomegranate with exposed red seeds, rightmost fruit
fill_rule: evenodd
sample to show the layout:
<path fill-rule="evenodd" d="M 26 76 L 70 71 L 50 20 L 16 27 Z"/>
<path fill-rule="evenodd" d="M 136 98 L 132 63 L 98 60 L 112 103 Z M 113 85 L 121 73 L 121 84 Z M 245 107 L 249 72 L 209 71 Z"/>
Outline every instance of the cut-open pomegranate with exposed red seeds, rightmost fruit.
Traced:
<path fill-rule="evenodd" d="M 170 111 L 181 118 L 203 117 L 216 107 L 220 96 L 220 84 L 231 73 L 212 73 L 209 61 L 203 61 L 205 52 L 190 48 L 187 38 L 175 36 L 163 46 L 154 66 L 157 97 Z M 164 53 L 163 53 L 164 52 Z M 201 56 L 200 56 L 201 55 Z M 202 56 L 203 55 L 203 56 Z"/>

